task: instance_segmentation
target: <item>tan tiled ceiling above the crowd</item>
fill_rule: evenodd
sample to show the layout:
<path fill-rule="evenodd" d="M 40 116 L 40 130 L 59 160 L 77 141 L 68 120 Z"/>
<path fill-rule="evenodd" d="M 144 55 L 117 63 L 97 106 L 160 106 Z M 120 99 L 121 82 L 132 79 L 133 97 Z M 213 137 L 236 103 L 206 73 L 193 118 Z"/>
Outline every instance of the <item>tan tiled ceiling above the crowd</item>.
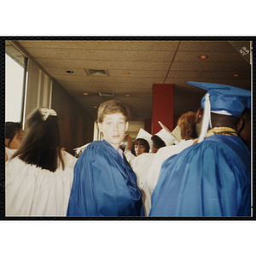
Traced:
<path fill-rule="evenodd" d="M 97 109 L 93 106 L 107 99 L 98 96 L 99 91 L 114 92 L 114 98 L 131 107 L 131 119 L 143 122 L 152 113 L 153 84 L 174 84 L 174 115 L 196 111 L 205 94 L 187 84 L 189 80 L 251 89 L 251 66 L 239 54 L 239 47 L 235 49 L 248 41 L 71 38 L 15 42 L 94 118 Z M 200 60 L 199 55 L 209 57 Z M 88 76 L 84 69 L 108 70 L 110 76 Z M 241 75 L 234 78 L 234 73 Z M 84 96 L 84 90 L 90 95 Z M 125 96 L 127 93 L 131 96 Z"/>

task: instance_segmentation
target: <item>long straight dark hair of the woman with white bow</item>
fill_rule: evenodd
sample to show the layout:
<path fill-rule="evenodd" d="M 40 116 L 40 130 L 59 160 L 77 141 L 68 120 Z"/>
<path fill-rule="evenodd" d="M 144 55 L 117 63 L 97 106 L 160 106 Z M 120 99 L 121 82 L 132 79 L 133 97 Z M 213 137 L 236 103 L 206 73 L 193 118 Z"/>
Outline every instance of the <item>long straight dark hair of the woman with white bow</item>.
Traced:
<path fill-rule="evenodd" d="M 50 172 L 55 172 L 61 163 L 64 170 L 58 117 L 49 115 L 46 120 L 43 120 L 39 109 L 35 109 L 28 117 L 26 124 L 29 131 L 12 159 L 19 156 L 20 160 L 27 164 Z"/>

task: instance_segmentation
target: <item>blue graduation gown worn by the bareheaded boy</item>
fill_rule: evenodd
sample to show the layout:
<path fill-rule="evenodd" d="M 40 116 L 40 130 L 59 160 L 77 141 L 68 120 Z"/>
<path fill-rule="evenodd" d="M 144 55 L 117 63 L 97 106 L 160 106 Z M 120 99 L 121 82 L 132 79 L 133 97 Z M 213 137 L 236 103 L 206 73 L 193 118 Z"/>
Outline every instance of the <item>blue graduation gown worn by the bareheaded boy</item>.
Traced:
<path fill-rule="evenodd" d="M 106 141 L 84 149 L 74 166 L 67 216 L 140 216 L 142 194 L 137 177 Z"/>

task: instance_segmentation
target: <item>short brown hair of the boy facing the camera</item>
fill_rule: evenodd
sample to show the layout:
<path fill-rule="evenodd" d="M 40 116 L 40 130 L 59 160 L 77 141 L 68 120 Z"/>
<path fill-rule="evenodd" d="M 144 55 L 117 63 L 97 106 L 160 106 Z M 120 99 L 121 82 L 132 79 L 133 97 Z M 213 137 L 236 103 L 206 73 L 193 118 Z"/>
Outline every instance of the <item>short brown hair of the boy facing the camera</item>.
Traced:
<path fill-rule="evenodd" d="M 111 100 L 108 102 L 102 102 L 98 109 L 98 118 L 97 122 L 102 123 L 105 114 L 112 113 L 122 113 L 125 116 L 125 121 L 128 121 L 129 118 L 129 110 L 126 108 L 125 104 L 117 101 Z"/>

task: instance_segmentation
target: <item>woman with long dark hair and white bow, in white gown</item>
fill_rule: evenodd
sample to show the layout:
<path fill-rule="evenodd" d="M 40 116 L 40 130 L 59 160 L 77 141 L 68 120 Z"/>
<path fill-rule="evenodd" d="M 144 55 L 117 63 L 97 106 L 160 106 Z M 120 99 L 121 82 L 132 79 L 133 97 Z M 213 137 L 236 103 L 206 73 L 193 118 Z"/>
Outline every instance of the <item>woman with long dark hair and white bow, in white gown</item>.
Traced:
<path fill-rule="evenodd" d="M 57 114 L 37 108 L 5 168 L 6 216 L 66 216 L 76 158 L 61 149 Z"/>

